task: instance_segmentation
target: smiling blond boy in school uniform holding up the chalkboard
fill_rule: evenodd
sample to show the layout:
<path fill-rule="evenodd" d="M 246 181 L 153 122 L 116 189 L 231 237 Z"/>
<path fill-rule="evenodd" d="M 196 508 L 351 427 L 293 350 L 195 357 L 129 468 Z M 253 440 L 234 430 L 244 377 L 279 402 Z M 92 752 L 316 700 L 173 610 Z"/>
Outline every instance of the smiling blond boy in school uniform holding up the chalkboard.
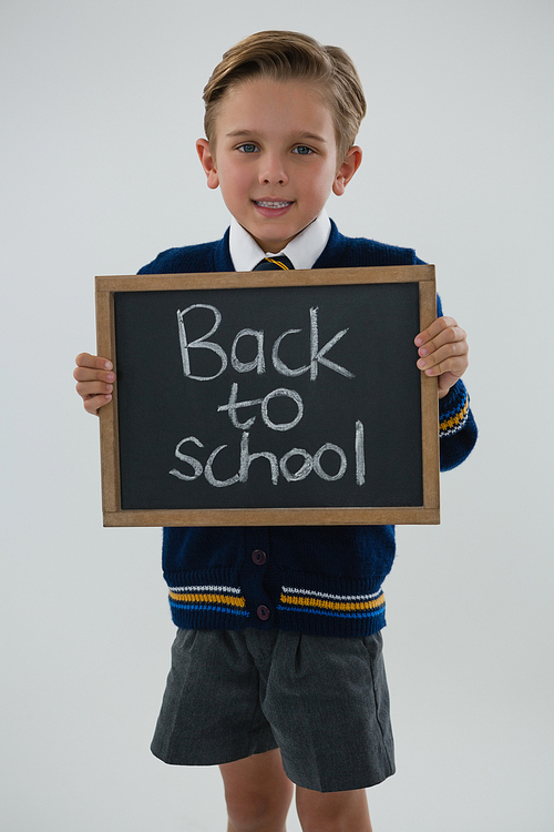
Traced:
<path fill-rule="evenodd" d="M 254 34 L 225 53 L 204 101 L 196 148 L 230 230 L 163 252 L 141 273 L 421 262 L 342 236 L 324 211 L 361 162 L 366 102 L 342 50 Z M 460 381 L 465 333 L 439 315 L 416 346 L 418 367 L 439 379 L 447 469 L 476 428 Z M 98 413 L 113 367 L 88 354 L 76 363 L 78 392 Z M 394 771 L 380 636 L 393 554 L 389 526 L 164 529 L 178 631 L 152 750 L 168 763 L 219 764 L 229 832 L 283 832 L 293 783 L 305 832 L 370 832 L 366 788 Z"/>

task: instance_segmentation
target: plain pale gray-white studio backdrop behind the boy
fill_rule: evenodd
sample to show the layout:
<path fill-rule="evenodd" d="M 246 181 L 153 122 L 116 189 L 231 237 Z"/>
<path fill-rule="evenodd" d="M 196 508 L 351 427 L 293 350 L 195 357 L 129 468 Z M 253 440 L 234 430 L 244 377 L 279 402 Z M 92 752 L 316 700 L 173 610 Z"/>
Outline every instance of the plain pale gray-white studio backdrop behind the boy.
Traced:
<path fill-rule="evenodd" d="M 442 525 L 399 529 L 386 584 L 398 773 L 370 791 L 376 832 L 554 829 L 553 12 L 2 0 L 2 830 L 225 829 L 217 770 L 150 754 L 173 638 L 161 532 L 102 528 L 72 369 L 95 348 L 95 274 L 223 234 L 202 89 L 271 28 L 352 55 L 365 161 L 329 213 L 434 263 L 472 348 L 480 442 L 442 478 Z"/>

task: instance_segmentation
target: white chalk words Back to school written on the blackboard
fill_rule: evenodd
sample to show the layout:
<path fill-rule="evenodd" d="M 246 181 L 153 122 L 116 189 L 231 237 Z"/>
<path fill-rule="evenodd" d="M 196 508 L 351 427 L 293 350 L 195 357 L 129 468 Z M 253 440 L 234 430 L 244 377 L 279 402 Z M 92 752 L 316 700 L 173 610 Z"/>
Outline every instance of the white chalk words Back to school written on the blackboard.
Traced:
<path fill-rule="evenodd" d="M 187 332 L 187 316 L 195 310 L 207 310 L 213 316 L 213 322 L 212 326 L 209 326 L 203 335 L 191 338 Z M 222 322 L 223 315 L 220 311 L 212 304 L 195 303 L 191 304 L 185 310 L 177 311 L 178 343 L 185 377 L 194 382 L 211 382 L 225 373 L 229 365 L 229 359 L 230 367 L 236 373 L 256 373 L 257 375 L 265 375 L 266 344 L 264 329 L 254 329 L 250 327 L 242 328 L 235 335 L 229 356 L 227 356 L 222 344 L 209 339 L 213 338 L 219 329 Z M 353 378 L 353 373 L 327 357 L 330 349 L 348 333 L 348 327 L 339 329 L 324 346 L 320 346 L 318 307 L 311 306 L 309 310 L 309 326 L 307 327 L 307 331 L 308 336 L 304 336 L 304 331 L 301 328 L 285 329 L 277 338 L 275 338 L 270 348 L 270 361 L 274 369 L 279 375 L 288 378 L 309 374 L 310 381 L 316 382 L 319 375 L 319 367 L 322 366 L 346 378 Z M 307 363 L 298 367 L 288 366 L 280 355 L 283 342 L 285 338 L 290 338 L 293 336 L 298 336 L 298 343 L 304 345 L 304 348 L 307 349 L 308 354 Z M 243 361 L 237 355 L 239 343 L 245 342 L 246 339 L 253 342 L 255 346 L 255 355 L 249 361 Z M 201 375 L 199 372 L 193 372 L 192 365 L 194 359 L 192 358 L 192 353 L 193 351 L 198 349 L 207 349 L 217 356 L 219 365 L 217 372 L 212 375 Z M 293 418 L 277 420 L 275 416 L 269 416 L 269 403 L 278 398 L 289 399 L 294 403 L 294 406 L 296 406 L 296 414 Z M 256 408 L 257 410 L 254 415 L 252 414 L 252 408 Z M 247 409 L 250 410 L 250 413 L 245 413 Z M 204 476 L 211 486 L 214 486 L 215 488 L 227 488 L 237 483 L 247 483 L 250 466 L 258 459 L 264 459 L 266 461 L 267 475 L 274 486 L 278 484 L 279 477 L 283 477 L 286 483 L 299 483 L 309 477 L 312 473 L 327 483 L 336 483 L 342 479 L 348 470 L 349 455 L 347 455 L 343 448 L 331 442 L 324 443 L 314 453 L 310 453 L 306 448 L 293 447 L 279 458 L 271 450 L 250 449 L 250 432 L 256 424 L 258 415 L 261 417 L 261 422 L 266 427 L 270 430 L 277 430 L 280 433 L 293 430 L 301 422 L 305 415 L 305 405 L 297 390 L 288 387 L 277 387 L 265 396 L 245 398 L 242 400 L 239 398 L 238 382 L 233 382 L 228 399 L 225 404 L 217 406 L 217 413 L 227 414 L 233 427 L 242 432 L 238 448 L 233 450 L 228 443 L 218 445 L 211 453 L 206 451 L 203 455 L 204 461 L 201 461 L 201 459 L 197 458 L 197 451 L 195 451 L 196 456 L 192 456 L 192 448 L 186 448 L 186 446 L 195 445 L 197 448 L 204 449 L 204 444 L 196 436 L 187 436 L 184 439 L 181 439 L 175 448 L 175 456 L 184 464 L 184 467 L 172 468 L 170 471 L 172 476 L 185 483 L 192 483 Z M 243 413 L 244 416 L 242 415 Z M 188 453 L 184 453 L 184 448 L 186 448 Z M 220 478 L 217 476 L 216 469 L 218 468 L 219 470 L 223 470 L 225 465 L 228 466 L 229 458 L 233 458 L 233 454 L 235 454 L 236 458 L 236 473 L 230 477 Z M 356 484 L 362 486 L 366 481 L 365 430 L 363 424 L 359 419 L 355 425 L 350 455 L 350 464 L 353 468 Z M 223 464 L 222 459 L 224 460 Z"/>

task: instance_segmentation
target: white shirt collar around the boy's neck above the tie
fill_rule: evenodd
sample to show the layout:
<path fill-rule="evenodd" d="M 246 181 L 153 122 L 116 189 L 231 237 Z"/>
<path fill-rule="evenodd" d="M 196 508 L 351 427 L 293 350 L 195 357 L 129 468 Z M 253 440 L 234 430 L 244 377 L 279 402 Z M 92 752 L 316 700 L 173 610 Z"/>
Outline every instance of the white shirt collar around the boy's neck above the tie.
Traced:
<path fill-rule="evenodd" d="M 327 245 L 330 233 L 331 222 L 327 212 L 321 211 L 279 254 L 286 254 L 295 268 L 311 268 Z M 275 253 L 264 252 L 234 216 L 230 220 L 229 250 L 237 272 L 252 272 L 266 255 L 276 256 Z"/>

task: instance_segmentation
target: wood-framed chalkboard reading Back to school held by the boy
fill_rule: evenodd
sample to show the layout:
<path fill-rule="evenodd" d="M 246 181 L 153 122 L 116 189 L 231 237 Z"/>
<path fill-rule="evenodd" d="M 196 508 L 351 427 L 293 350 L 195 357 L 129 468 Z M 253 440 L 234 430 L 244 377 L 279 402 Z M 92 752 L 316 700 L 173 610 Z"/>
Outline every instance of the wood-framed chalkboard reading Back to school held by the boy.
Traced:
<path fill-rule="evenodd" d="M 105 525 L 437 522 L 432 266 L 96 278 Z"/>

